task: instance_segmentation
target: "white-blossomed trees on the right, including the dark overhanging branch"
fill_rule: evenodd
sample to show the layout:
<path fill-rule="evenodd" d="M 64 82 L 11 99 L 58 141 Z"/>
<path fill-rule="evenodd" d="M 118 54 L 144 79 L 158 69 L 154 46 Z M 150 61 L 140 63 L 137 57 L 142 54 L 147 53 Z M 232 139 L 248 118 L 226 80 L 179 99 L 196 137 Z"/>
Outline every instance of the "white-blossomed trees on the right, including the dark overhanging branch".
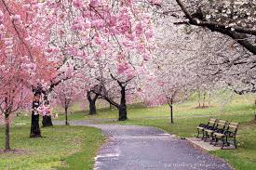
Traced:
<path fill-rule="evenodd" d="M 255 2 L 162 1 L 155 8 L 154 85 L 146 83 L 151 105 L 173 102 L 195 91 L 205 98 L 228 86 L 237 94 L 255 92 Z M 165 38 L 163 38 L 165 37 Z M 152 93 L 154 92 L 154 93 Z M 207 92 L 207 93 L 206 93 Z M 210 96 L 210 95 L 209 95 Z"/>

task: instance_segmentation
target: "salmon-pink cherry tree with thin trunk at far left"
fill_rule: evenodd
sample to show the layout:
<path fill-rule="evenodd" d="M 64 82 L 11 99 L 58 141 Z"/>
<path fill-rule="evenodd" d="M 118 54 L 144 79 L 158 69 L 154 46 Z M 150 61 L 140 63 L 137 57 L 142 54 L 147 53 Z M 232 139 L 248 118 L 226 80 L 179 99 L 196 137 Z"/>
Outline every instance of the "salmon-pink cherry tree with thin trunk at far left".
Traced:
<path fill-rule="evenodd" d="M 18 111 L 27 104 L 28 99 L 31 99 L 28 92 L 31 86 L 37 85 L 44 78 L 47 80 L 47 77 L 54 74 L 50 69 L 52 63 L 44 60 L 41 49 L 30 44 L 34 13 L 32 10 L 27 10 L 27 7 L 31 5 L 36 3 L 0 1 L 0 104 L 1 114 L 5 114 L 6 119 L 6 150 L 10 150 L 10 114 Z M 48 68 L 44 72 L 42 72 L 43 65 Z"/>

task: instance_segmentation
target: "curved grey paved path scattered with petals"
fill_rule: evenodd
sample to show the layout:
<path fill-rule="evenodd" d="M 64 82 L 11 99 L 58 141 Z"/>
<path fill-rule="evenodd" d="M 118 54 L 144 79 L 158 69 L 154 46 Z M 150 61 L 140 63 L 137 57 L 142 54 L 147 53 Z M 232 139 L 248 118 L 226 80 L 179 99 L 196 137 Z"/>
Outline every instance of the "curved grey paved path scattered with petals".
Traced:
<path fill-rule="evenodd" d="M 196 150 L 188 141 L 172 137 L 155 127 L 90 124 L 88 121 L 70 124 L 98 127 L 108 136 L 95 158 L 95 170 L 232 169 L 221 159 Z"/>

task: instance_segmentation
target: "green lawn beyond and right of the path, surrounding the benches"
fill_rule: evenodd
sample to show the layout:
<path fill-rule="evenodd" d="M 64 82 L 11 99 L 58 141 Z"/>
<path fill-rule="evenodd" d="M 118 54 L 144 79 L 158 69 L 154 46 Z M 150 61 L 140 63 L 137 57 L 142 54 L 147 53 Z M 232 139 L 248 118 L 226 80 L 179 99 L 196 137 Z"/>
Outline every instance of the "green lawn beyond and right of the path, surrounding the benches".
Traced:
<path fill-rule="evenodd" d="M 220 97 L 222 98 L 222 97 Z M 224 119 L 229 122 L 238 122 L 238 149 L 210 151 L 210 154 L 222 157 L 237 170 L 256 169 L 256 124 L 251 120 L 256 108 L 253 105 L 255 96 L 235 96 L 231 102 L 223 104 L 225 100 L 215 98 L 207 109 L 195 109 L 196 98 L 174 106 L 174 124 L 169 122 L 169 108 L 167 105 L 145 108 L 141 104 L 128 106 L 128 121 L 101 122 L 101 119 L 118 118 L 117 110 L 99 109 L 97 115 L 88 115 L 88 111 L 74 111 L 69 120 L 97 120 L 101 124 L 139 124 L 161 128 L 178 137 L 195 137 L 196 126 L 207 123 L 209 117 Z M 63 120 L 60 114 L 58 120 Z M 28 118 L 20 116 L 16 122 L 27 122 Z M 26 136 L 27 137 L 27 136 Z M 61 147 L 60 147 L 61 148 Z M 71 159 L 72 160 L 72 159 Z M 69 161 L 67 161 L 69 163 Z M 0 168 L 1 169 L 1 168 Z"/>

